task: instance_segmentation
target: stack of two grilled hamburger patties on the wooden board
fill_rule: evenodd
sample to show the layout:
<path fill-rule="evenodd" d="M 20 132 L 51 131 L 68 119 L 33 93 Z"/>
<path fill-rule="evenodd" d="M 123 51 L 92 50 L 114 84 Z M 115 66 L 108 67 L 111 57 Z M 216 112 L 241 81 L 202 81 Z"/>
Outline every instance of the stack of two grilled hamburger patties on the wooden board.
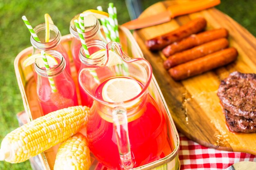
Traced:
<path fill-rule="evenodd" d="M 217 95 L 230 130 L 256 132 L 256 74 L 231 73 L 221 81 Z"/>

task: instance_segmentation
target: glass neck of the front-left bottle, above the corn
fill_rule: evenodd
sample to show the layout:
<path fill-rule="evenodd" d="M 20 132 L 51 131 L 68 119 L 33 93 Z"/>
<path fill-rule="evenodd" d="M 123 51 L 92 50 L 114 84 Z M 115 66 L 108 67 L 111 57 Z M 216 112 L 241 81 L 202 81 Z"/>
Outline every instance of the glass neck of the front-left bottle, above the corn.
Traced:
<path fill-rule="evenodd" d="M 35 71 L 39 76 L 43 77 L 55 77 L 59 74 L 61 74 L 66 67 L 66 62 L 64 60 L 63 55 L 55 50 L 47 50 L 45 51 L 46 54 L 52 55 L 57 61 L 58 65 L 50 66 L 49 70 L 46 70 L 45 68 L 40 68 L 38 66 L 38 63 L 35 63 Z"/>

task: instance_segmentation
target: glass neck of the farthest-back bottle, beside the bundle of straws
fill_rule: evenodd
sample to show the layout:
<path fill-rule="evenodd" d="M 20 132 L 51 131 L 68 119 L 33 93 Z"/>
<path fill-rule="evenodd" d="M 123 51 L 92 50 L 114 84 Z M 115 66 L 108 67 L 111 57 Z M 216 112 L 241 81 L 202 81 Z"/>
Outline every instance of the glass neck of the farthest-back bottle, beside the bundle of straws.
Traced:
<path fill-rule="evenodd" d="M 76 31 L 76 26 L 74 24 L 74 20 L 78 19 L 79 15 L 74 16 L 74 18 L 70 21 L 70 33 L 71 35 L 79 40 L 79 34 Z M 83 33 L 83 37 L 85 40 L 92 40 L 99 33 L 99 21 L 96 17 L 93 17 L 94 25 L 85 27 L 85 32 Z"/>

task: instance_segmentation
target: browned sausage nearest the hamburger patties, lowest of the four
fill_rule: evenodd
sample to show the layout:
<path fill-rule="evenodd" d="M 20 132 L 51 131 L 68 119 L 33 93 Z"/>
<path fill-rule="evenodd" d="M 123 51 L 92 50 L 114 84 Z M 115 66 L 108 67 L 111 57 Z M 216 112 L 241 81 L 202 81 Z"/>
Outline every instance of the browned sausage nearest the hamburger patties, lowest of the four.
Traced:
<path fill-rule="evenodd" d="M 209 71 L 213 68 L 224 66 L 236 60 L 238 53 L 235 48 L 231 47 L 204 57 L 180 64 L 169 69 L 171 77 L 175 80 L 186 79 L 193 75 L 198 75 Z"/>

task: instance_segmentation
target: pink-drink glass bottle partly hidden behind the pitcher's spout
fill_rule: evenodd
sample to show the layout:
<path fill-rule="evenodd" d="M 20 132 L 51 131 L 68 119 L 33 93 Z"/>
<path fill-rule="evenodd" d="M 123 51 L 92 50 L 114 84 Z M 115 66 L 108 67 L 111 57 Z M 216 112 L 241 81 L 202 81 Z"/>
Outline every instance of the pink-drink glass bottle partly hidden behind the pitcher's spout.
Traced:
<path fill-rule="evenodd" d="M 86 44 L 91 57 L 89 58 L 86 57 L 85 52 L 83 50 L 83 46 L 81 46 L 80 53 L 79 53 L 81 66 L 78 74 L 82 69 L 93 71 L 95 68 L 99 66 L 103 66 L 106 62 L 106 55 L 105 55 L 106 44 L 104 42 L 100 40 L 90 40 L 86 42 Z M 96 52 L 99 52 L 99 51 L 101 51 L 102 53 L 98 53 L 99 55 L 94 55 L 93 57 L 93 54 L 96 54 Z M 82 105 L 91 107 L 93 103 L 93 99 L 83 91 L 80 84 L 79 84 L 79 91 L 80 91 Z"/>

